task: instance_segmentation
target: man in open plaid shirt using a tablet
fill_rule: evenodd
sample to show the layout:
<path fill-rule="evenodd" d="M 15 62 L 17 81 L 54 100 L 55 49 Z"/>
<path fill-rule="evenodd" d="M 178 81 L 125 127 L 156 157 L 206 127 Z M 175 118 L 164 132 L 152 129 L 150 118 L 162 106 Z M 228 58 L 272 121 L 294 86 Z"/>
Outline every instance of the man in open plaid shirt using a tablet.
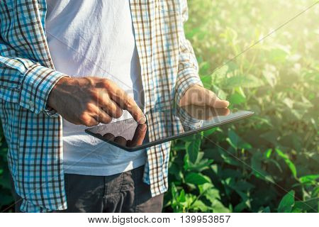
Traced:
<path fill-rule="evenodd" d="M 228 106 L 198 77 L 186 0 L 6 0 L 0 11 L 16 210 L 161 211 L 169 143 L 129 155 L 83 131 L 174 104 Z"/>

